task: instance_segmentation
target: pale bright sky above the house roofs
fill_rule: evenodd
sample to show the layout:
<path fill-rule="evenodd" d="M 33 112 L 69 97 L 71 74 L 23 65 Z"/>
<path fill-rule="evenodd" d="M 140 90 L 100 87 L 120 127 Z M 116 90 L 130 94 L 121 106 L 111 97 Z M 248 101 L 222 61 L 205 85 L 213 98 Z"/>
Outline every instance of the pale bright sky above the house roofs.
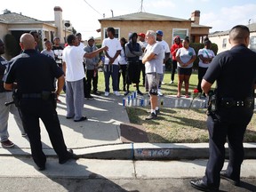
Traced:
<path fill-rule="evenodd" d="M 86 3 L 87 2 L 87 3 Z M 90 4 L 92 7 L 90 7 Z M 84 39 L 88 36 L 100 36 L 95 29 L 100 28 L 99 19 L 140 12 L 141 0 L 7 0 L 1 4 L 11 12 L 37 20 L 54 20 L 54 6 L 63 10 L 63 20 L 70 20 Z M 93 9 L 94 10 L 93 10 Z M 95 11 L 96 10 L 96 11 Z M 211 32 L 228 30 L 237 24 L 248 25 L 256 22 L 255 0 L 143 0 L 143 12 L 188 19 L 191 12 L 201 12 L 200 24 L 211 26 Z"/>

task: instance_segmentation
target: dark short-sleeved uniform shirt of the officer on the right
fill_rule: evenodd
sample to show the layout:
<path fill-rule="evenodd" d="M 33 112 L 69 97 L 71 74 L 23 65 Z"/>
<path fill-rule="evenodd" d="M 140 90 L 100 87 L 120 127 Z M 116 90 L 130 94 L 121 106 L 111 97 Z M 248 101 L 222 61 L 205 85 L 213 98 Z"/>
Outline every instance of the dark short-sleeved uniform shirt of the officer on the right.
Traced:
<path fill-rule="evenodd" d="M 256 83 L 256 52 L 243 44 L 221 52 L 212 60 L 204 79 L 211 84 L 217 80 L 219 98 L 244 100 L 252 97 Z"/>

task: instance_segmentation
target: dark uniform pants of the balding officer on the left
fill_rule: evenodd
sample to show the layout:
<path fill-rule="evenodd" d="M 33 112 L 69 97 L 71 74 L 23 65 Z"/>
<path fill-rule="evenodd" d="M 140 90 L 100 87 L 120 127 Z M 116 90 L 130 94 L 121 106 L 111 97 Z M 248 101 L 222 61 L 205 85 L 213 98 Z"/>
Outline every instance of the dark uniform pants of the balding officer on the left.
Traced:
<path fill-rule="evenodd" d="M 60 121 L 51 100 L 22 99 L 20 111 L 24 129 L 28 134 L 32 157 L 37 166 L 43 166 L 46 156 L 42 149 L 39 118 L 43 121 L 50 137 L 52 148 L 59 156 L 59 160 L 68 157 L 68 150 L 60 128 Z"/>

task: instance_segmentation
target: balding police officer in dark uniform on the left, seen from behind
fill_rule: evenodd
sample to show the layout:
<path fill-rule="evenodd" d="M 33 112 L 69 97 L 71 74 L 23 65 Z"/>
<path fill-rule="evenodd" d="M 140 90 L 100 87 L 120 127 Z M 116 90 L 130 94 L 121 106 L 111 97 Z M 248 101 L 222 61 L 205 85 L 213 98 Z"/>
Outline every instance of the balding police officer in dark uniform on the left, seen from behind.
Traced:
<path fill-rule="evenodd" d="M 20 47 L 24 52 L 10 61 L 8 71 L 4 76 L 4 88 L 6 90 L 18 89 L 16 99 L 18 97 L 32 156 L 39 170 L 42 171 L 45 169 L 46 156 L 42 150 L 39 118 L 43 121 L 52 147 L 59 156 L 59 163 L 64 164 L 76 156 L 72 150 L 67 150 L 55 109 L 54 95 L 59 95 L 62 90 L 63 71 L 52 58 L 36 52 L 35 45 L 34 37 L 30 34 L 23 34 L 20 37 Z M 56 92 L 53 87 L 54 77 L 58 79 Z M 14 82 L 17 82 L 17 87 L 14 87 L 16 86 Z"/>

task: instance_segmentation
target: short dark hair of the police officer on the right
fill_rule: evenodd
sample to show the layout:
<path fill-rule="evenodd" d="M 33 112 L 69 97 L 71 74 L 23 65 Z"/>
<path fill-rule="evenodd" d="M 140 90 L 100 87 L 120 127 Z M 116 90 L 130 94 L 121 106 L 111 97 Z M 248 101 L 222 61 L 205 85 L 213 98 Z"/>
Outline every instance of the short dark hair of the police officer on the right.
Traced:
<path fill-rule="evenodd" d="M 229 31 L 229 38 L 233 41 L 240 41 L 250 36 L 250 30 L 244 25 L 236 25 Z"/>

